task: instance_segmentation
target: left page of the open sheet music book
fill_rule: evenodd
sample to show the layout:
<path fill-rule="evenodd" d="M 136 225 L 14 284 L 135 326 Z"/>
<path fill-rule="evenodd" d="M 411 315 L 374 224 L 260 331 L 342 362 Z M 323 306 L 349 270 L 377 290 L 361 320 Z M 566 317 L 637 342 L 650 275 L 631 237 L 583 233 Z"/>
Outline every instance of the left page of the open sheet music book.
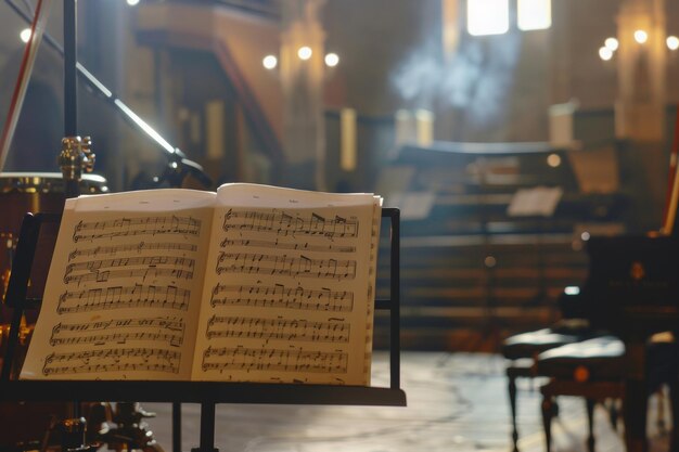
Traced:
<path fill-rule="evenodd" d="M 190 379 L 214 201 L 68 199 L 21 377 Z"/>

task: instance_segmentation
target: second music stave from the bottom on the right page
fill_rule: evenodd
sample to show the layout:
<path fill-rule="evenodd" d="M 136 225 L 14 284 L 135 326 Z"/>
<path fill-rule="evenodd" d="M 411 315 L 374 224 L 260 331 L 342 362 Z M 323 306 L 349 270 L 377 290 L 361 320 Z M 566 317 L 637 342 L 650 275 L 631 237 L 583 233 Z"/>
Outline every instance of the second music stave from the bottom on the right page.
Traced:
<path fill-rule="evenodd" d="M 208 339 L 290 340 L 311 343 L 348 343 L 350 326 L 343 319 L 311 322 L 304 319 L 259 319 L 213 315 L 207 322 Z"/>

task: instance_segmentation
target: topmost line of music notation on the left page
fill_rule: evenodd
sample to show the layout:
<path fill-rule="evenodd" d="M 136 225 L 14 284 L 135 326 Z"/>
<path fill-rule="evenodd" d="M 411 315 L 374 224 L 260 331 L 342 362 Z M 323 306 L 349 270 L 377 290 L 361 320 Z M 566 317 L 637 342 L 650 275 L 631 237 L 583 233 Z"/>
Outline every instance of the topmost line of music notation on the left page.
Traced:
<path fill-rule="evenodd" d="M 179 234 L 197 236 L 201 220 L 193 217 L 121 218 L 106 221 L 80 221 L 73 232 L 73 242 L 101 238 L 128 237 L 134 235 Z"/>

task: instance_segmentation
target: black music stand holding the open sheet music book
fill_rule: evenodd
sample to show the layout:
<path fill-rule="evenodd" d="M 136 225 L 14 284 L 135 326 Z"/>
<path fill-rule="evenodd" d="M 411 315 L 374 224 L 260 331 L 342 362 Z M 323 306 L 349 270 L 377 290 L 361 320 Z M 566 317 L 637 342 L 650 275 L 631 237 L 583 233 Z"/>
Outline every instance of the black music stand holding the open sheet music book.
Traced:
<path fill-rule="evenodd" d="M 59 222 L 61 216 L 27 214 L 22 223 L 16 257 L 8 286 L 7 302 L 14 308 L 8 350 L 0 378 L 0 401 L 115 400 L 120 402 L 171 402 L 172 450 L 181 451 L 181 403 L 201 403 L 200 445 L 192 452 L 215 452 L 215 408 L 217 403 L 280 403 L 406 406 L 400 388 L 400 211 L 383 208 L 389 220 L 389 298 L 377 299 L 375 310 L 389 312 L 389 387 L 294 385 L 218 382 L 149 380 L 18 380 L 11 379 L 18 325 L 25 309 L 39 300 L 26 299 L 38 236 L 43 223 Z"/>

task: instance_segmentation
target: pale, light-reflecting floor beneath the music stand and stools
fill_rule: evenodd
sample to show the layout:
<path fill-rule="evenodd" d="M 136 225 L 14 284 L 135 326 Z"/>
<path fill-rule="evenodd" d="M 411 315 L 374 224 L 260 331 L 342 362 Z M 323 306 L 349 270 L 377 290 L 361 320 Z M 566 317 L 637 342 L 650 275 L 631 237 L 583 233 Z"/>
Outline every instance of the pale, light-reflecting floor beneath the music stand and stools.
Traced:
<path fill-rule="evenodd" d="M 377 356 L 373 385 L 386 386 L 385 356 Z M 402 353 L 407 408 L 219 405 L 216 447 L 221 452 L 509 452 L 510 415 L 504 361 L 486 353 Z M 539 382 L 538 382 L 539 383 Z M 537 384 L 520 382 L 520 449 L 545 451 Z M 171 450 L 170 406 L 146 403 L 155 438 Z M 651 410 L 657 412 L 653 406 Z M 182 450 L 197 447 L 200 406 L 182 406 Z M 597 452 L 623 451 L 598 408 Z M 652 451 L 667 450 L 667 435 L 650 423 Z M 553 425 L 553 451 L 585 451 L 585 403 L 562 398 Z"/>

